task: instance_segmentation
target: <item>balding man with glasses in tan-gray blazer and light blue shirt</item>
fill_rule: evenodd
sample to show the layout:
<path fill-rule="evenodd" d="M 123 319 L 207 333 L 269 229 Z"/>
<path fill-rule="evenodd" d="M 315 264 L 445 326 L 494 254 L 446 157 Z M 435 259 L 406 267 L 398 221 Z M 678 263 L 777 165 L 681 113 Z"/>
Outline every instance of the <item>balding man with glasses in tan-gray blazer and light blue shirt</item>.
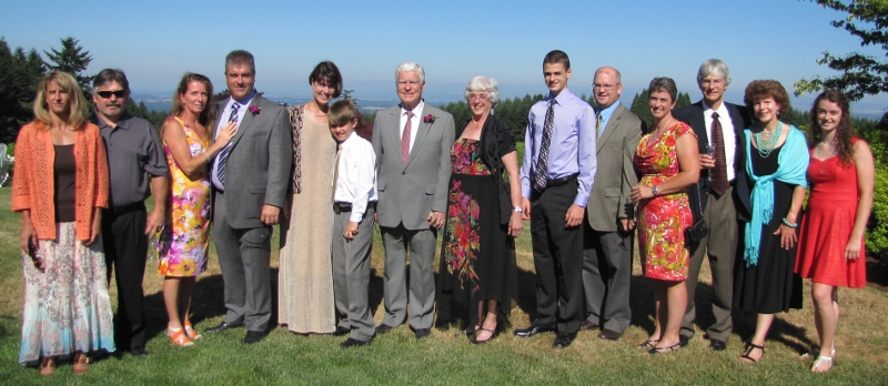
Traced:
<path fill-rule="evenodd" d="M 598 338 L 616 341 L 632 321 L 629 282 L 635 211 L 629 199 L 638 183 L 633 159 L 645 123 L 619 103 L 619 71 L 595 71 L 596 158 L 598 170 L 586 205 L 583 290 L 586 312 L 581 329 L 603 328 Z"/>

